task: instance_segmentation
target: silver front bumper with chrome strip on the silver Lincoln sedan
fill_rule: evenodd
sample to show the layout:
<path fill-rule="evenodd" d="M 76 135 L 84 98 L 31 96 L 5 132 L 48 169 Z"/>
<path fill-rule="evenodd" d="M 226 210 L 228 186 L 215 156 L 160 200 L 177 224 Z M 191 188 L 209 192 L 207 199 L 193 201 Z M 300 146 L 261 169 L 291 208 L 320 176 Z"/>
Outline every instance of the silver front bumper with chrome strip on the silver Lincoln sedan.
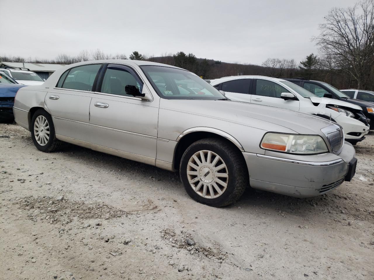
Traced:
<path fill-rule="evenodd" d="M 312 197 L 330 192 L 355 173 L 355 149 L 345 143 L 339 155 L 258 155 L 243 152 L 249 184 L 254 189 L 294 197 Z M 354 165 L 354 166 L 353 166 Z"/>

